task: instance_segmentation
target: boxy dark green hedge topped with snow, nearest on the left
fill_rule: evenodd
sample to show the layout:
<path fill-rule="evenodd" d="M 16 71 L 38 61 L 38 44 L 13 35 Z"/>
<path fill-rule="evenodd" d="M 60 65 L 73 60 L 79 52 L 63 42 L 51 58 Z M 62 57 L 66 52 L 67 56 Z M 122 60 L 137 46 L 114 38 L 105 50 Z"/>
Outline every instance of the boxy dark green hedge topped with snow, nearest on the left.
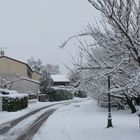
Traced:
<path fill-rule="evenodd" d="M 17 97 L 16 97 L 17 96 Z M 3 111 L 17 111 L 24 109 L 28 106 L 28 97 L 27 96 L 3 96 L 2 97 L 2 110 Z"/>

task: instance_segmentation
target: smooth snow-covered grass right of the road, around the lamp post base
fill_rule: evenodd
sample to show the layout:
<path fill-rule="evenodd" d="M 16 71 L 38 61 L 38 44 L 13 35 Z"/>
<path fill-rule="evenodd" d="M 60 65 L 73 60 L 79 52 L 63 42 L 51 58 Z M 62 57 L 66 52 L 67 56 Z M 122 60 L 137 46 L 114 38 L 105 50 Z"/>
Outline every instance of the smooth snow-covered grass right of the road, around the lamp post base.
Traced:
<path fill-rule="evenodd" d="M 114 127 L 106 128 L 107 109 L 87 100 L 58 109 L 33 140 L 134 140 L 140 138 L 138 120 L 137 115 L 129 110 L 114 110 Z"/>

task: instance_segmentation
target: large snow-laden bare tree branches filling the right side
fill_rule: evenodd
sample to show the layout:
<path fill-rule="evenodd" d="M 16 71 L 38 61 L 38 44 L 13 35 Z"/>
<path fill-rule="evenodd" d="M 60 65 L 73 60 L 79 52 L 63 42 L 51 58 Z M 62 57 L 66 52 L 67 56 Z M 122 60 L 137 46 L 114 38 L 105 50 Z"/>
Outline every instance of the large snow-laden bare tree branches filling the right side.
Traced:
<path fill-rule="evenodd" d="M 139 97 L 136 88 L 140 73 L 140 2 L 135 0 L 88 0 L 88 2 L 101 12 L 103 28 L 88 25 L 86 32 L 68 38 L 61 47 L 72 38 L 90 36 L 92 44 L 80 42 L 86 60 L 82 66 L 77 64 L 77 68 L 82 70 L 83 74 L 81 87 L 86 86 L 94 96 L 102 98 L 106 93 L 106 77 L 111 75 L 112 96 L 125 98 L 131 107 L 133 98 Z"/>

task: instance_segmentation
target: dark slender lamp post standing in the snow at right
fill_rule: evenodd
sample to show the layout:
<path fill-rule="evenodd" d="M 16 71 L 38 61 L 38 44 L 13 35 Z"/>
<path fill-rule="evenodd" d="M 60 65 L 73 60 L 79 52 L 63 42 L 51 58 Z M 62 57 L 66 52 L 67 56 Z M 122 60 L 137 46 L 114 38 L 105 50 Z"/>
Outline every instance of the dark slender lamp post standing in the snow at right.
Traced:
<path fill-rule="evenodd" d="M 110 76 L 108 76 L 108 123 L 107 128 L 113 127 L 111 117 L 111 99 L 110 99 Z"/>

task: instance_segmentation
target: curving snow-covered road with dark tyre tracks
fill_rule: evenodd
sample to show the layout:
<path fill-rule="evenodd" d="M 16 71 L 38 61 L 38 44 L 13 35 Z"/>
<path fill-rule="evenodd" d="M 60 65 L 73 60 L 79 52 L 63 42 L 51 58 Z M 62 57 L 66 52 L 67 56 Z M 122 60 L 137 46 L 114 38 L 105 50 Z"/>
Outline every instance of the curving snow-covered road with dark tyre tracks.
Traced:
<path fill-rule="evenodd" d="M 38 107 L 28 113 L 25 113 L 24 110 L 20 112 L 22 116 L 10 120 L 6 123 L 0 125 L 0 140 L 29 140 L 33 135 L 38 131 L 40 126 L 44 123 L 45 120 L 59 107 L 64 105 L 69 105 L 74 101 L 63 101 L 58 103 L 49 103 L 49 105 Z M 79 102 L 79 101 L 78 101 Z M 34 105 L 35 107 L 36 105 Z M 9 112 L 5 112 L 10 114 Z M 16 113 L 16 112 L 15 112 Z M 24 114 L 25 113 L 25 114 Z M 18 114 L 18 112 L 17 112 Z"/>

